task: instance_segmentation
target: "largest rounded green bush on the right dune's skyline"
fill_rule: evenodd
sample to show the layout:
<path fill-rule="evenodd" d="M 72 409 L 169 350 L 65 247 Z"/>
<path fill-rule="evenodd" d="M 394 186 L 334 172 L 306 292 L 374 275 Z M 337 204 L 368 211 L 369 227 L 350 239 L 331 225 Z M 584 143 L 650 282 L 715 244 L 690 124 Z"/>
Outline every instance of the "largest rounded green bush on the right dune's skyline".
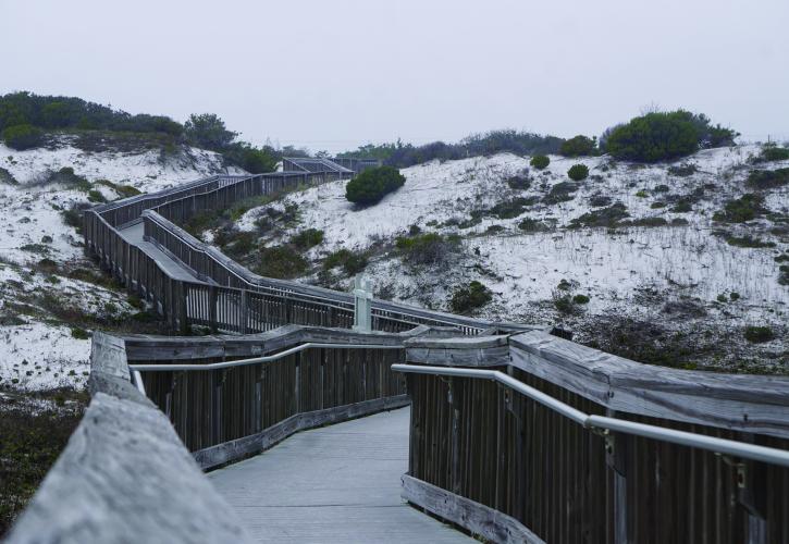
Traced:
<path fill-rule="evenodd" d="M 617 159 L 657 162 L 731 145 L 737 136 L 730 128 L 713 126 L 704 114 L 677 110 L 634 118 L 608 131 L 604 143 L 605 150 Z"/>

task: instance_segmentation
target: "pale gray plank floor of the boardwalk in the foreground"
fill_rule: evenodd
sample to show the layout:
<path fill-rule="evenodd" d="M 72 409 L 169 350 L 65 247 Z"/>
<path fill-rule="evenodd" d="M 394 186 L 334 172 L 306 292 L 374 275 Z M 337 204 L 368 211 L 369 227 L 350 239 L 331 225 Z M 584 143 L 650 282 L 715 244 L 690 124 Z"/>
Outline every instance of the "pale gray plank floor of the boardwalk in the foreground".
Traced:
<path fill-rule="evenodd" d="M 301 432 L 208 477 L 258 542 L 474 542 L 400 498 L 408 418 L 402 408 Z"/>

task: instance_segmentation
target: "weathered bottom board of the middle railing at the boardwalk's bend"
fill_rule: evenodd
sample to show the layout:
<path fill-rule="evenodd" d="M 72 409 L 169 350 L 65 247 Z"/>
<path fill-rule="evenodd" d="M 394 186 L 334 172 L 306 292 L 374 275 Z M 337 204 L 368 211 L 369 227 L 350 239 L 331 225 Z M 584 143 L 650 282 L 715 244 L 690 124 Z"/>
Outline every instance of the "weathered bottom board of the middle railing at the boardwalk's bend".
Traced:
<path fill-rule="evenodd" d="M 353 405 L 297 413 L 259 433 L 199 449 L 193 452 L 192 455 L 201 469 L 209 470 L 264 452 L 299 431 L 348 421 L 383 410 L 402 408 L 409 403 L 410 399 L 407 395 L 399 395 L 396 397 L 375 398 Z"/>

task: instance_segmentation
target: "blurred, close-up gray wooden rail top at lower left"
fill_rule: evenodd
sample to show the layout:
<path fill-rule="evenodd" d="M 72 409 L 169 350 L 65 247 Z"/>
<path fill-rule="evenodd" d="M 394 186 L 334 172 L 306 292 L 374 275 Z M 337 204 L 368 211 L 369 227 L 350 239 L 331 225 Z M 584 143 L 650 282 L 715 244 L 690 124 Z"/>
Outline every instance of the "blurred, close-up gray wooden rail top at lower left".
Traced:
<path fill-rule="evenodd" d="M 116 341 L 95 334 L 90 405 L 4 542 L 250 542 L 164 415 L 130 383 Z"/>

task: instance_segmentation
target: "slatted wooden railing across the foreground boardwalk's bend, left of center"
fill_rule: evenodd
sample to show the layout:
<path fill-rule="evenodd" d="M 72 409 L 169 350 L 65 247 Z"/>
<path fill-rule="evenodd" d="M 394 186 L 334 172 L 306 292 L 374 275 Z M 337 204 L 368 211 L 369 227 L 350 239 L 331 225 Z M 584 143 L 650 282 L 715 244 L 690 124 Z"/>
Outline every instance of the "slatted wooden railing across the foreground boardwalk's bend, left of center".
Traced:
<path fill-rule="evenodd" d="M 202 468 L 259 453 L 301 429 L 405 406 L 400 334 L 289 325 L 246 336 L 121 339 L 147 396 Z M 457 331 L 453 331 L 457 334 Z"/>

